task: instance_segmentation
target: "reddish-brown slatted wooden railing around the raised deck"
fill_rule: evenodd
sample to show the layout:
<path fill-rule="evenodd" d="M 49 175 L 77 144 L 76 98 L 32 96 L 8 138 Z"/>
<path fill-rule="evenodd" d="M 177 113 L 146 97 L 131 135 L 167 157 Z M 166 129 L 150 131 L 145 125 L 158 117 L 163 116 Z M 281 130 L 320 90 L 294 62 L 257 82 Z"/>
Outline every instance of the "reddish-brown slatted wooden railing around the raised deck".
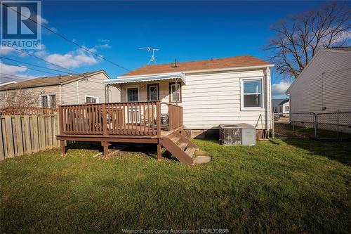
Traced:
<path fill-rule="evenodd" d="M 161 102 L 98 103 L 59 107 L 60 134 L 159 136 Z M 168 104 L 167 130 L 183 125 L 183 109 Z"/>

